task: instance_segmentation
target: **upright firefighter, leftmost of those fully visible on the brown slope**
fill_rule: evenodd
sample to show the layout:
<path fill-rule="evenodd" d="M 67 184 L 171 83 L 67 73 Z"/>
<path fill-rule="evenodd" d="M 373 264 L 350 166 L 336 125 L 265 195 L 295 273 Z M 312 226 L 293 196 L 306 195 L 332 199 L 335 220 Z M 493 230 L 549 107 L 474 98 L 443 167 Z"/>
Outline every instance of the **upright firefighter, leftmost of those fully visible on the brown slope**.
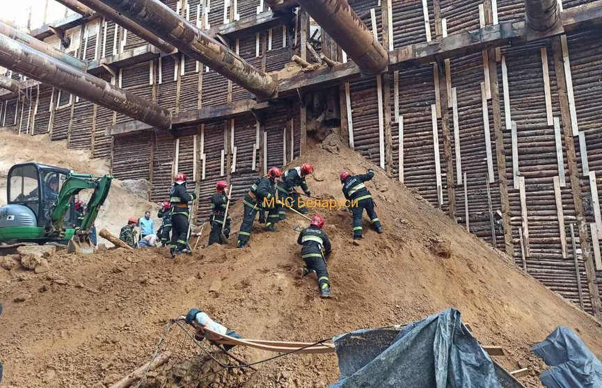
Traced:
<path fill-rule="evenodd" d="M 184 172 L 178 172 L 173 179 L 169 202 L 171 204 L 171 245 L 169 252 L 171 257 L 175 254 L 191 253 L 188 245 L 188 232 L 190 228 L 189 217 L 190 208 L 188 202 L 196 200 L 195 193 L 188 193 L 186 190 L 186 175 Z"/>

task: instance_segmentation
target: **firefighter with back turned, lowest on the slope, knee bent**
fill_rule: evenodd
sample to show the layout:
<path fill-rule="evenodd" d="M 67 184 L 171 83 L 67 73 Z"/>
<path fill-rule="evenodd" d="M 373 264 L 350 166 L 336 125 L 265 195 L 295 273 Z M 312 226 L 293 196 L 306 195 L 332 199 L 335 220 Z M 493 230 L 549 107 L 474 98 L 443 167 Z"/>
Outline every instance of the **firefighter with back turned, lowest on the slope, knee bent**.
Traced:
<path fill-rule="evenodd" d="M 301 277 L 315 273 L 318 279 L 320 297 L 331 298 L 331 282 L 328 278 L 326 257 L 330 254 L 332 247 L 322 227 L 324 227 L 324 219 L 320 216 L 314 216 L 310 226 L 299 233 L 297 243 L 303 245 L 301 259 L 306 263 L 306 266 L 301 268 L 300 272 Z"/>

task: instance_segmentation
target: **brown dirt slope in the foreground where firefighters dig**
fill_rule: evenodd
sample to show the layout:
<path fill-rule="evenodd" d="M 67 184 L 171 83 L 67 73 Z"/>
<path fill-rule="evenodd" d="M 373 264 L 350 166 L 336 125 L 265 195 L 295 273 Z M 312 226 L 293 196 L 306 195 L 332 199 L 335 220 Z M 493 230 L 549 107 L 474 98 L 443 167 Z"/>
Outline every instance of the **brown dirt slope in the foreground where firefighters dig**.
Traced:
<path fill-rule="evenodd" d="M 329 140 L 324 148 L 330 151 L 316 147 L 304 159 L 315 165 L 309 184 L 315 195 L 342 199 L 338 172 L 361 173 L 370 163 Z M 498 361 L 509 369 L 541 371 L 529 348 L 557 325 L 575 329 L 602 356 L 602 329 L 594 318 L 382 172 L 367 186 L 385 234 L 367 231 L 361 245 L 353 245 L 349 213 L 320 211 L 335 248 L 329 263 L 333 300 L 318 298 L 315 278 L 294 277 L 301 259 L 293 227 L 306 225 L 296 216 L 279 224 L 277 233 L 257 226 L 243 250 L 232 248 L 232 241 L 175 261 L 159 249 L 57 254 L 48 274 L 0 269 L 7 386 L 102 387 L 100 382 L 148 361 L 169 318 L 193 306 L 246 337 L 303 341 L 414 321 L 451 306 L 482 343 L 505 348 L 508 357 Z M 232 214 L 236 231 L 240 204 Z M 451 257 L 434 254 L 431 239 L 450 241 Z M 267 356 L 237 352 L 248 360 Z M 539 386 L 534 374 L 523 382 Z M 292 355 L 262 364 L 246 387 L 324 387 L 337 377 L 334 355 Z"/>

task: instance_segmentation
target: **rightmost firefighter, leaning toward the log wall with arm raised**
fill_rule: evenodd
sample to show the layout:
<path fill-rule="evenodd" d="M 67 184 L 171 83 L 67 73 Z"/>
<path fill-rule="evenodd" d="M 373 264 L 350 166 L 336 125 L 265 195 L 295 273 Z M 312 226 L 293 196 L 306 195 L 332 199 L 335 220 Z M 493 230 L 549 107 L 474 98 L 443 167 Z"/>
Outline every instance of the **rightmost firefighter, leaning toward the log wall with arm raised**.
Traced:
<path fill-rule="evenodd" d="M 349 201 L 357 201 L 357 205 L 351 207 L 351 213 L 354 216 L 354 240 L 362 238 L 362 215 L 364 209 L 366 209 L 366 213 L 370 217 L 372 228 L 379 233 L 383 232 L 381 221 L 377 216 L 377 212 L 374 211 L 374 200 L 372 200 L 372 195 L 364 184 L 365 181 L 370 181 L 373 177 L 374 170 L 372 169 L 369 169 L 363 175 L 351 175 L 346 171 L 341 172 L 340 175 L 345 198 Z"/>

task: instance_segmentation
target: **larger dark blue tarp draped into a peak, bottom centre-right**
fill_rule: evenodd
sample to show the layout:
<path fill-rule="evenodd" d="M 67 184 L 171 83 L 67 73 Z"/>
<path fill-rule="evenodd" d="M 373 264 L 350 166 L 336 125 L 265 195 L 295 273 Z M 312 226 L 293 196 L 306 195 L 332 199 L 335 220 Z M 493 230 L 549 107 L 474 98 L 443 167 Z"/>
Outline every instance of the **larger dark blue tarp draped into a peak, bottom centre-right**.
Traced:
<path fill-rule="evenodd" d="M 334 338 L 340 378 L 331 388 L 500 388 L 489 355 L 447 309 L 405 328 Z"/>

